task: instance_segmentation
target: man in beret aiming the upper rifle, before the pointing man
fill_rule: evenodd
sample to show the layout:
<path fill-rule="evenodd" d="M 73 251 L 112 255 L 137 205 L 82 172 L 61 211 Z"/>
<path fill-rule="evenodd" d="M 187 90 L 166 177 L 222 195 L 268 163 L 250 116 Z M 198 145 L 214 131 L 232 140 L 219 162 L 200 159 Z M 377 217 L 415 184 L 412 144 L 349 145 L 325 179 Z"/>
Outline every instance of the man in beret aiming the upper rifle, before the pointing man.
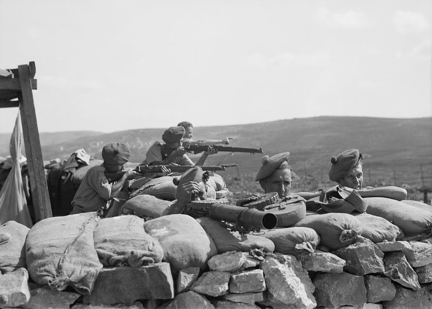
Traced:
<path fill-rule="evenodd" d="M 183 147 L 183 137 L 186 130 L 183 126 L 170 127 L 165 130 L 162 135 L 162 140 L 165 143 L 156 141 L 148 149 L 145 154 L 145 160 L 142 164 L 148 165 L 195 165 L 194 162 L 187 156 L 186 150 Z M 217 151 L 209 146 L 208 151 L 205 151 L 196 165 L 203 165 L 209 154 L 217 153 Z"/>

